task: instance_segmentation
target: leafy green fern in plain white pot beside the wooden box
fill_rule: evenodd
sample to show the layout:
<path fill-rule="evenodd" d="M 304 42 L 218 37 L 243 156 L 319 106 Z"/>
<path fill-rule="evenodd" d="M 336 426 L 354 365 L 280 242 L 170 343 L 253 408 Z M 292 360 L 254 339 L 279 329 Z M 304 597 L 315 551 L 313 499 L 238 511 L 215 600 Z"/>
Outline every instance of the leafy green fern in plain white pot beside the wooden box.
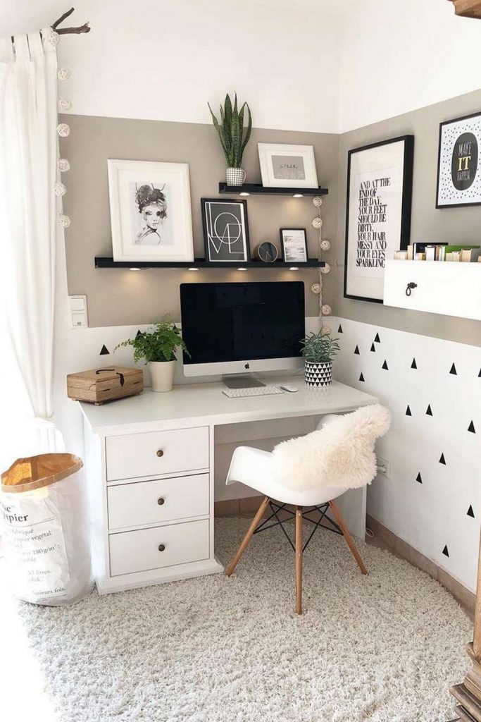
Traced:
<path fill-rule="evenodd" d="M 145 359 L 149 365 L 152 391 L 172 391 L 177 359 L 175 352 L 182 349 L 189 353 L 180 336 L 180 330 L 167 316 L 156 323 L 151 331 L 139 331 L 135 339 L 123 341 L 115 350 L 120 346 L 133 347 L 134 361 Z"/>

